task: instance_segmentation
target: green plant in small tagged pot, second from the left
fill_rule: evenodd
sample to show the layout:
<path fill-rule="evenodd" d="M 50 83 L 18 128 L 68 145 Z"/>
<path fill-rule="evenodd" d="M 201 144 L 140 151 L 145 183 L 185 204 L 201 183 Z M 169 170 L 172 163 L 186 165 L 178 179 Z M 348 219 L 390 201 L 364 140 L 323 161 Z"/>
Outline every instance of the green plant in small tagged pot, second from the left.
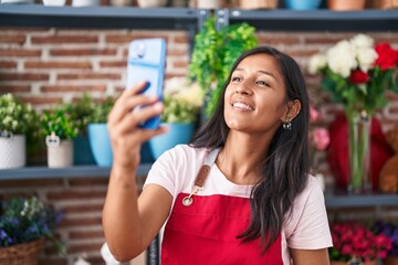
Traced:
<path fill-rule="evenodd" d="M 43 136 L 55 135 L 60 139 L 71 140 L 78 135 L 81 121 L 70 114 L 63 105 L 44 110 L 40 119 Z"/>

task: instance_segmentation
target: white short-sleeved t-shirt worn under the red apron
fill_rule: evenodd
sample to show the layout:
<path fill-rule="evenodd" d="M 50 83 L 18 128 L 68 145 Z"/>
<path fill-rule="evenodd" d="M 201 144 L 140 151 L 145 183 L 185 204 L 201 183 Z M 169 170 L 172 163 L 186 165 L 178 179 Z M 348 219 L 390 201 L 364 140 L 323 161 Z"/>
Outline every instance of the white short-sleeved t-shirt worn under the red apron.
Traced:
<path fill-rule="evenodd" d="M 178 145 L 164 152 L 153 165 L 145 184 L 164 187 L 174 198 L 181 192 L 190 193 L 195 178 L 205 163 L 207 149 Z M 216 163 L 211 166 L 200 195 L 222 194 L 250 198 L 252 186 L 239 186 L 229 181 Z M 290 264 L 290 248 L 318 250 L 331 247 L 332 236 L 327 221 L 324 194 L 316 179 L 308 177 L 307 186 L 294 201 L 292 214 L 282 229 L 282 257 Z"/>

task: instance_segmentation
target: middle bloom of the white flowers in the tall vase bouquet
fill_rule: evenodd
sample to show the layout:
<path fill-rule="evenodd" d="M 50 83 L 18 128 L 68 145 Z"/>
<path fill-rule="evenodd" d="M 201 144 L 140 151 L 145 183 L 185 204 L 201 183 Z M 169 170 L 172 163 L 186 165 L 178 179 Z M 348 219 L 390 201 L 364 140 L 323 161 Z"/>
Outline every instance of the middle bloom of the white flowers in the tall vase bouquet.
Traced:
<path fill-rule="evenodd" d="M 355 49 L 345 40 L 331 47 L 326 53 L 326 59 L 329 68 L 345 78 L 358 66 Z"/>

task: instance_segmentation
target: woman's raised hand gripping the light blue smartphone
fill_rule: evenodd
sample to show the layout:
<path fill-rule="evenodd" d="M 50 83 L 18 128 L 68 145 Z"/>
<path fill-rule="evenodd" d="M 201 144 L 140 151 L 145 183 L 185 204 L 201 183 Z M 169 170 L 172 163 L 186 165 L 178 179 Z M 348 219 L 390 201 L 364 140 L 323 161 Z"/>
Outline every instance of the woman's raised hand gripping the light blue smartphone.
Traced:
<path fill-rule="evenodd" d="M 107 121 L 113 150 L 113 166 L 125 169 L 135 169 L 139 165 L 139 150 L 143 142 L 167 130 L 159 127 L 156 130 L 143 129 L 138 125 L 160 115 L 163 104 L 156 96 L 139 94 L 145 88 L 146 82 L 136 84 L 132 89 L 126 89 L 116 100 Z M 139 105 L 148 105 L 139 110 L 132 112 Z"/>

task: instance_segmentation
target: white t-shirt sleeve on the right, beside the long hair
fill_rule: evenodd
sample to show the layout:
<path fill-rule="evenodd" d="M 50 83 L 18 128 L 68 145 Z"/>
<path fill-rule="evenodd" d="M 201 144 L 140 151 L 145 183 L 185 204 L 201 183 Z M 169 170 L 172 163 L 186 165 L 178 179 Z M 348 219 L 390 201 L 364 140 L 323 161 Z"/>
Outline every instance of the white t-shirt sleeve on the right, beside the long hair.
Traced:
<path fill-rule="evenodd" d="M 333 246 L 324 193 L 314 177 L 294 203 L 287 245 L 297 250 Z"/>

